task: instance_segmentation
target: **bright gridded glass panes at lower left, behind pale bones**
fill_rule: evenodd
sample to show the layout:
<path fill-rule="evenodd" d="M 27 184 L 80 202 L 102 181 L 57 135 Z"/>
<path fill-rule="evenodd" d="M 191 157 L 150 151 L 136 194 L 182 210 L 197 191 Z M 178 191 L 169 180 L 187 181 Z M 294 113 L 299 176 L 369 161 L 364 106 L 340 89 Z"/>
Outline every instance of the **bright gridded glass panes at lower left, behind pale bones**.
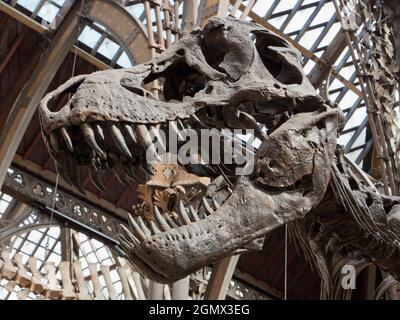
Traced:
<path fill-rule="evenodd" d="M 11 196 L 0 193 L 0 226 L 2 225 L 3 215 L 8 210 L 13 210 L 13 205 L 16 203 Z M 38 213 L 34 209 L 30 210 L 27 218 L 19 223 L 19 227 L 32 225 L 37 222 Z M 90 281 L 90 272 L 88 268 L 89 263 L 97 264 L 98 269 L 100 265 L 110 266 L 110 276 L 113 281 L 114 288 L 119 299 L 123 299 L 122 285 L 120 276 L 115 269 L 116 261 L 110 249 L 103 243 L 96 239 L 89 238 L 83 233 L 72 231 L 74 246 L 78 247 L 79 256 L 77 259 L 81 264 L 83 276 L 87 278 L 87 286 L 89 292 L 93 291 L 93 286 Z M 46 262 L 54 262 L 56 266 L 61 262 L 62 248 L 60 239 L 60 227 L 55 222 L 51 227 L 37 228 L 31 231 L 12 236 L 4 243 L 5 247 L 10 251 L 10 258 L 15 254 L 20 254 L 23 262 L 27 265 L 29 257 L 37 259 L 38 270 L 45 273 L 44 264 Z M 57 270 L 56 277 L 61 280 L 60 272 Z M 103 295 L 107 297 L 108 291 L 106 283 L 102 275 L 99 275 L 99 281 Z M 8 280 L 0 280 L 0 299 L 2 300 L 15 300 L 18 299 L 18 294 L 23 288 L 18 285 L 12 287 L 10 290 L 7 284 Z M 36 295 L 30 293 L 27 299 L 36 299 Z"/>

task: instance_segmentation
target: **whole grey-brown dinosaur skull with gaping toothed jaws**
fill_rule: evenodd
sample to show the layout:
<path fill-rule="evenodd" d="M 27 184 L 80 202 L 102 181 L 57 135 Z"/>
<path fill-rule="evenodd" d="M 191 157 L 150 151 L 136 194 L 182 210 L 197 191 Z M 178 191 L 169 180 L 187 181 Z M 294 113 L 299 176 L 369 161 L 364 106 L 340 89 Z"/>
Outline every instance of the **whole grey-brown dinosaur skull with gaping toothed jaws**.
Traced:
<path fill-rule="evenodd" d="M 158 98 L 146 89 L 154 80 L 163 86 Z M 65 94 L 65 106 L 50 111 Z M 154 221 L 130 219 L 121 243 L 130 261 L 160 282 L 304 216 L 327 187 L 340 119 L 284 39 L 254 23 L 220 18 L 145 64 L 70 79 L 43 99 L 39 112 L 57 170 L 78 189 L 79 165 L 89 167 L 101 190 L 101 170 L 113 170 L 124 183 L 135 180 L 140 168 L 148 169 L 146 152 L 156 149 L 154 132 L 254 130 L 261 146 L 251 175 L 235 175 L 232 165 L 187 165 L 214 179 L 202 204 L 181 203 L 172 222 L 158 208 Z"/>

